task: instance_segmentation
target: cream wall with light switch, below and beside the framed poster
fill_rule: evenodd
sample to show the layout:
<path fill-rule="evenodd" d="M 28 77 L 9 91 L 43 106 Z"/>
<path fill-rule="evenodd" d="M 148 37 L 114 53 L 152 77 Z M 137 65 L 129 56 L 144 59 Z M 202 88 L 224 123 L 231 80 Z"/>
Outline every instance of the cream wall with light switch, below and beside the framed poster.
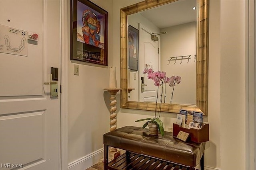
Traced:
<path fill-rule="evenodd" d="M 108 11 L 108 66 L 113 66 L 113 1 L 92 0 Z M 74 64 L 79 65 L 79 76 L 73 74 Z M 68 63 L 68 162 L 89 158 L 103 149 L 102 135 L 109 131 L 108 67 L 83 62 Z M 103 152 L 100 153 L 103 157 Z M 87 168 L 99 159 L 85 164 Z M 85 167 L 86 166 L 86 167 Z"/>

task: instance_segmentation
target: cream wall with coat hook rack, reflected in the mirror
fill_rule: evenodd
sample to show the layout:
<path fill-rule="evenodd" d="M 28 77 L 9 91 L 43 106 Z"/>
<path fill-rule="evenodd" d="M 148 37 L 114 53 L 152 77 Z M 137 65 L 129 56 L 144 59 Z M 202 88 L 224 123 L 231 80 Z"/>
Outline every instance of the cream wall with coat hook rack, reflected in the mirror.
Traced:
<path fill-rule="evenodd" d="M 161 29 L 161 71 L 166 76 L 180 76 L 180 84 L 174 86 L 174 104 L 196 104 L 196 22 Z M 191 59 L 170 61 L 170 57 L 191 55 Z M 175 58 L 174 58 L 175 59 Z M 181 58 L 178 58 L 181 59 Z M 169 63 L 169 64 L 168 64 Z M 175 63 L 175 64 L 174 64 Z M 166 101 L 170 103 L 173 87 L 166 88 Z M 184 90 L 186 89 L 186 90 Z"/>

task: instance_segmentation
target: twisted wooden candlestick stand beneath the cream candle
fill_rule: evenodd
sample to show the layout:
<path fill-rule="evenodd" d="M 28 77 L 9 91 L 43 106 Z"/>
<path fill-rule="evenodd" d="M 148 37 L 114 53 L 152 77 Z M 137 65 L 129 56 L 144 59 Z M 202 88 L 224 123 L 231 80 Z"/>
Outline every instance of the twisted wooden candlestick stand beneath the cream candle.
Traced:
<path fill-rule="evenodd" d="M 109 131 L 114 131 L 116 130 L 116 93 L 119 90 L 122 90 L 122 88 L 104 88 L 104 90 L 108 90 L 108 92 L 111 94 L 110 97 L 110 129 Z M 116 148 L 110 148 L 109 149 L 111 152 L 116 152 Z"/>

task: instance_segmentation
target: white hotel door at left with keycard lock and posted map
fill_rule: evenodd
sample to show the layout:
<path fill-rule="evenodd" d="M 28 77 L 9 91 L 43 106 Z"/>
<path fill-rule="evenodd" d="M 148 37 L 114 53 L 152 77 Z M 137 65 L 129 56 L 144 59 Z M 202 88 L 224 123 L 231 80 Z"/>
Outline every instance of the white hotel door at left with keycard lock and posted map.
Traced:
<path fill-rule="evenodd" d="M 60 1 L 0 4 L 0 168 L 58 170 L 60 90 L 44 82 L 60 68 Z"/>

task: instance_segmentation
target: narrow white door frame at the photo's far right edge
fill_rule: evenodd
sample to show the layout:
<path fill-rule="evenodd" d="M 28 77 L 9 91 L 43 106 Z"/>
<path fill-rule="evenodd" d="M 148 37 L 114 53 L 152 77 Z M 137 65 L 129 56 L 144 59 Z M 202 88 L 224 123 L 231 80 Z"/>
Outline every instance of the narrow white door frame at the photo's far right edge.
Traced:
<path fill-rule="evenodd" d="M 255 169 L 256 158 L 256 0 L 246 1 L 246 170 Z"/>

